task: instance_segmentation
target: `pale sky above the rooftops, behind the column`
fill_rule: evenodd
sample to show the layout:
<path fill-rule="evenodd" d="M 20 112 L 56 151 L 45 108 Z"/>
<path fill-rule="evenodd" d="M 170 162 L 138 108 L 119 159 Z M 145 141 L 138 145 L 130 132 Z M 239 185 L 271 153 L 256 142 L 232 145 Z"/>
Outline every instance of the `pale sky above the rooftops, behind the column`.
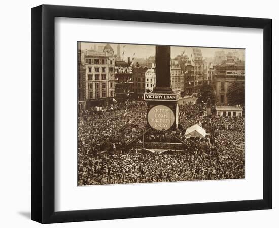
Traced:
<path fill-rule="evenodd" d="M 96 50 L 98 50 L 98 46 L 104 46 L 106 43 L 91 43 L 91 42 L 82 42 L 81 43 L 81 49 L 94 49 L 96 47 Z M 117 44 L 110 43 L 112 48 L 114 49 L 114 53 L 117 54 Z M 125 45 L 125 47 L 124 47 Z M 202 51 L 203 58 L 208 57 L 214 57 L 214 53 L 216 51 L 224 50 L 225 52 L 228 52 L 228 48 L 204 48 L 199 47 Z M 123 50 L 124 56 L 123 59 L 127 59 L 128 57 L 132 58 L 133 54 L 135 53 L 136 58 L 148 58 L 149 56 L 155 56 L 155 46 L 154 45 L 138 45 L 138 44 L 120 44 L 120 56 L 122 57 Z M 186 46 L 171 46 L 170 48 L 170 57 L 174 58 L 177 55 L 181 55 L 183 51 L 185 50 L 184 54 L 187 54 Z M 243 49 L 238 49 L 239 52 L 243 52 Z"/>

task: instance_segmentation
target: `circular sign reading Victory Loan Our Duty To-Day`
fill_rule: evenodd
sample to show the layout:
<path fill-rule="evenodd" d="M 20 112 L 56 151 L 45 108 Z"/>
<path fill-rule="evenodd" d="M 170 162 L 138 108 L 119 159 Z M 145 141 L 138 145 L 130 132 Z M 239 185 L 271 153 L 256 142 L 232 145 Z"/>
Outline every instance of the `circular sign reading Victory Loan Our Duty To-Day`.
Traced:
<path fill-rule="evenodd" d="M 171 108 L 165 105 L 157 105 L 149 110 L 147 121 L 156 130 L 167 130 L 175 123 L 175 114 Z"/>

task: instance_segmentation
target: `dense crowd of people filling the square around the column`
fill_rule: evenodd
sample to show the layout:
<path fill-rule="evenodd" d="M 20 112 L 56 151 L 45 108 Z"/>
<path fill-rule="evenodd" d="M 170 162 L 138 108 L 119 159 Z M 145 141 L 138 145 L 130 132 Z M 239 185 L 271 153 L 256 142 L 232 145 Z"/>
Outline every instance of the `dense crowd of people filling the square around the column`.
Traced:
<path fill-rule="evenodd" d="M 78 185 L 244 178 L 244 118 L 207 117 L 204 109 L 180 105 L 178 128 L 166 131 L 148 127 L 142 101 L 87 111 L 78 123 Z M 194 124 L 210 134 L 186 138 Z M 183 149 L 147 151 L 137 146 L 143 141 Z"/>

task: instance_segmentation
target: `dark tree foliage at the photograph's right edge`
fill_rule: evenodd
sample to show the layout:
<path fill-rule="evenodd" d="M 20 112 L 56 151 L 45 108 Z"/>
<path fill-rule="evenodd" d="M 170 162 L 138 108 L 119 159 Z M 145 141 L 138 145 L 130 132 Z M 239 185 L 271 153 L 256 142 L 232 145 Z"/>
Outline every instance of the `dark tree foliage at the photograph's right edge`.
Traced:
<path fill-rule="evenodd" d="M 227 97 L 230 105 L 241 105 L 244 107 L 244 83 L 233 82 L 229 86 Z"/>

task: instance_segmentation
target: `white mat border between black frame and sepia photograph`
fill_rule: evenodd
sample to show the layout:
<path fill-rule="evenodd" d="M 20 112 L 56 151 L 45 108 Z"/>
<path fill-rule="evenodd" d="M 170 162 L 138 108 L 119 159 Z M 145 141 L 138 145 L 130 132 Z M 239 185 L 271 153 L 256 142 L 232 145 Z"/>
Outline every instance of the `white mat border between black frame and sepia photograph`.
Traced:
<path fill-rule="evenodd" d="M 246 49 L 245 179 L 77 187 L 77 41 Z M 262 199 L 263 30 L 55 18 L 55 211 Z"/>

